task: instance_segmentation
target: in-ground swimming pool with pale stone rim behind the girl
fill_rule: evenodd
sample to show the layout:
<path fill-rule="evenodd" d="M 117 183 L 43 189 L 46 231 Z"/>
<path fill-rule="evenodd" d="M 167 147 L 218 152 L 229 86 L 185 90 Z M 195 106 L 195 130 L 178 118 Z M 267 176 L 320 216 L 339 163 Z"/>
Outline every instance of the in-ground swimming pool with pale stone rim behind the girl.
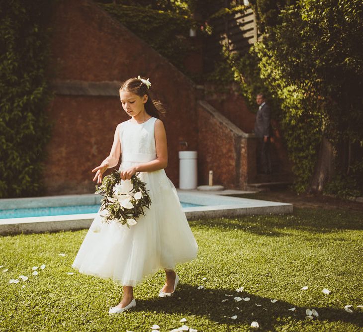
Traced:
<path fill-rule="evenodd" d="M 177 190 L 188 220 L 292 213 L 292 204 Z M 0 199 L 0 211 L 4 213 L 0 217 L 0 235 L 90 228 L 100 200 L 101 196 L 94 194 Z M 53 215 L 50 215 L 50 211 Z M 14 212 L 18 213 L 17 216 L 11 215 Z M 36 216 L 29 216 L 27 213 L 30 212 Z"/>

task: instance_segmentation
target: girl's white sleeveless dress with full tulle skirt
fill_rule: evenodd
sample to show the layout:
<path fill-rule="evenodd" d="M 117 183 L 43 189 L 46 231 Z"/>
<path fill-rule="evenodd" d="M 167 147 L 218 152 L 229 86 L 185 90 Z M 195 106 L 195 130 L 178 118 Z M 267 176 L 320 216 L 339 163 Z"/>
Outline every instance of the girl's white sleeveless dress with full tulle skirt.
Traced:
<path fill-rule="evenodd" d="M 119 170 L 156 159 L 155 121 L 152 117 L 141 124 L 121 123 Z M 145 216 L 130 228 L 117 221 L 101 222 L 98 210 L 72 264 L 80 273 L 136 286 L 160 268 L 174 269 L 196 257 L 197 243 L 165 170 L 140 172 L 139 177 L 149 190 L 150 209 L 144 208 Z M 121 182 L 132 189 L 130 180 Z"/>

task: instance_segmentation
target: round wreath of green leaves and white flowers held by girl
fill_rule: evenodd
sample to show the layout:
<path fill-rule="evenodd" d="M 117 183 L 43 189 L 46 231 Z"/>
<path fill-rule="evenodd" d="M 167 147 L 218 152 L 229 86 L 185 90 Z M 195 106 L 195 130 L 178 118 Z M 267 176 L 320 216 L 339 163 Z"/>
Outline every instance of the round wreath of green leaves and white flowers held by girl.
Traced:
<path fill-rule="evenodd" d="M 149 190 L 145 188 L 138 176 L 132 175 L 130 180 L 122 180 L 118 170 L 103 177 L 102 183 L 97 187 L 95 194 L 101 194 L 102 222 L 112 220 L 122 225 L 136 225 L 136 218 L 141 214 L 145 216 L 144 208 L 150 208 L 151 199 Z"/>

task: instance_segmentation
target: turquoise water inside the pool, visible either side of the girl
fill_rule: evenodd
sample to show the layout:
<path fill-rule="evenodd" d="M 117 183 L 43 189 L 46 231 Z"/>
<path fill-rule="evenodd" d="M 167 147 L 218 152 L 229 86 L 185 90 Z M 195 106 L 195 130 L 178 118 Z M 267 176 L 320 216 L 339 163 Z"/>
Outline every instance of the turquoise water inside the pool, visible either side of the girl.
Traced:
<path fill-rule="evenodd" d="M 182 207 L 201 206 L 181 202 Z M 63 216 L 67 214 L 96 213 L 99 204 L 96 205 L 74 205 L 74 206 L 53 206 L 26 209 L 0 210 L 0 219 L 5 218 L 24 218 L 24 217 L 43 217 L 43 216 Z"/>

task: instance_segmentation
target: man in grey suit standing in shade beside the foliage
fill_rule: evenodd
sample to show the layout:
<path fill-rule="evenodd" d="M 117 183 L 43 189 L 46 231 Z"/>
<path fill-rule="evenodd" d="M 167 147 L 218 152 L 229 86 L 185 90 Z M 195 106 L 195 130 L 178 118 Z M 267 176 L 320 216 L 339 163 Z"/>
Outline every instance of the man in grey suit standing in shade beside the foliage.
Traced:
<path fill-rule="evenodd" d="M 258 139 L 257 169 L 260 173 L 271 174 L 271 109 L 263 93 L 256 96 L 256 102 L 259 105 L 255 121 L 255 135 Z"/>

